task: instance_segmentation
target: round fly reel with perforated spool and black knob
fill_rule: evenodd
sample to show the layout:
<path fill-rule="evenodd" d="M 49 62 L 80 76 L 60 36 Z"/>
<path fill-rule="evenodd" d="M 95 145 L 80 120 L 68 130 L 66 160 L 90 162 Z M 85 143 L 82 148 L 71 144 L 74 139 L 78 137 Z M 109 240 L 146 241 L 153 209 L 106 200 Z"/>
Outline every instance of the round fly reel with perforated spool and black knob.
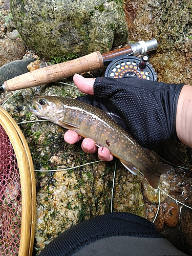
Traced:
<path fill-rule="evenodd" d="M 157 74 L 148 60 L 148 55 L 143 55 L 142 58 L 127 56 L 119 60 L 115 59 L 106 69 L 105 77 L 123 78 L 132 76 L 157 81 Z"/>

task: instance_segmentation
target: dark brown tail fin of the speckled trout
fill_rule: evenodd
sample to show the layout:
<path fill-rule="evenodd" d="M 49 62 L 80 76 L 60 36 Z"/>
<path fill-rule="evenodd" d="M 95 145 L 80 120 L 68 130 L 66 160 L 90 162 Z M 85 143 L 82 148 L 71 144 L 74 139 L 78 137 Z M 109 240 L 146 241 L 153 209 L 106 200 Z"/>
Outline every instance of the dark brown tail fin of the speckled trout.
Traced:
<path fill-rule="evenodd" d="M 172 166 L 168 164 L 159 164 L 159 166 L 157 166 L 157 168 L 155 168 L 150 174 L 143 174 L 152 187 L 158 188 L 161 174 L 164 174 L 171 168 Z"/>

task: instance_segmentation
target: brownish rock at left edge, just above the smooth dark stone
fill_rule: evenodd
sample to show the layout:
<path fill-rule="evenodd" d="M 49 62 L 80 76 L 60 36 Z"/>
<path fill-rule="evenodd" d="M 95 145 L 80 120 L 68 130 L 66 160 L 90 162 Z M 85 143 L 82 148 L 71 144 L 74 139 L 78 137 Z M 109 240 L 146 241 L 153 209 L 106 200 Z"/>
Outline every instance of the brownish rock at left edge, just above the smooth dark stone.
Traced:
<path fill-rule="evenodd" d="M 0 39 L 0 67 L 16 60 L 22 59 L 26 52 L 26 45 L 20 40 Z"/>

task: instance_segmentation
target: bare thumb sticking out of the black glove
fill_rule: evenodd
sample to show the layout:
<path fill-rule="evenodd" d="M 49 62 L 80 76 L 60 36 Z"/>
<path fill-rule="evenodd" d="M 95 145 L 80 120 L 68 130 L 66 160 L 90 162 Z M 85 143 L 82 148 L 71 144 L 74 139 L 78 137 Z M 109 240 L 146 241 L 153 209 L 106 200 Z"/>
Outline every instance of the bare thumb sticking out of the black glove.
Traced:
<path fill-rule="evenodd" d="M 82 92 L 86 94 L 93 95 L 93 84 L 95 81 L 95 78 L 84 78 L 83 76 L 79 74 L 75 74 L 73 76 L 73 81 L 76 84 L 77 88 Z"/>

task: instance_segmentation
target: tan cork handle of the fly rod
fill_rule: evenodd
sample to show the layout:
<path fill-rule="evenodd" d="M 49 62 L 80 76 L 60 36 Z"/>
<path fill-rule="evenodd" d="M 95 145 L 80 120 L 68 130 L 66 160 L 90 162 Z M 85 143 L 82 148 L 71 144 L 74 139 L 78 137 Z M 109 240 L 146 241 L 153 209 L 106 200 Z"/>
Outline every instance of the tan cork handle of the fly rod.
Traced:
<path fill-rule="evenodd" d="M 37 69 L 20 76 L 16 76 L 4 82 L 4 90 L 14 91 L 41 84 L 58 81 L 70 77 L 75 73 L 83 73 L 103 68 L 103 59 L 99 51 L 86 56 Z"/>

